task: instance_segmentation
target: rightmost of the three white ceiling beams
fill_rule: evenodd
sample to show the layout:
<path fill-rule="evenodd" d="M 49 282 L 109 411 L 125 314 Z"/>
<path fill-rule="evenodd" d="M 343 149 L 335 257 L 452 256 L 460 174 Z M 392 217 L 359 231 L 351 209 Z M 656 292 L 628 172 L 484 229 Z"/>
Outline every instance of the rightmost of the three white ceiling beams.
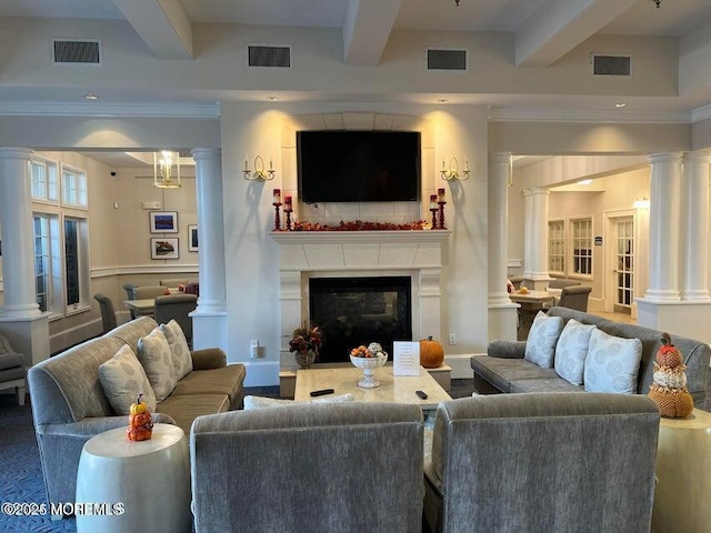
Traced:
<path fill-rule="evenodd" d="M 638 0 L 550 0 L 515 32 L 517 67 L 548 67 Z"/>

